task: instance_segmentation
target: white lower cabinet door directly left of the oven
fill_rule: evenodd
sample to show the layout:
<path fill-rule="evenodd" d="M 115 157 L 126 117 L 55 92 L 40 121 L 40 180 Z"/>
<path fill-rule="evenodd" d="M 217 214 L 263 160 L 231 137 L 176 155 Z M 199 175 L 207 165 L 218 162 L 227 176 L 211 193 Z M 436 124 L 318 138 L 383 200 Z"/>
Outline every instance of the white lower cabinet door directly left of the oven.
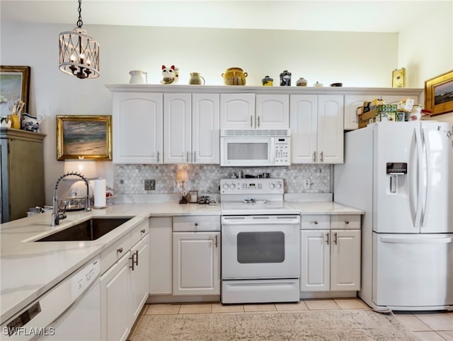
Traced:
<path fill-rule="evenodd" d="M 220 232 L 173 233 L 173 295 L 220 294 Z"/>

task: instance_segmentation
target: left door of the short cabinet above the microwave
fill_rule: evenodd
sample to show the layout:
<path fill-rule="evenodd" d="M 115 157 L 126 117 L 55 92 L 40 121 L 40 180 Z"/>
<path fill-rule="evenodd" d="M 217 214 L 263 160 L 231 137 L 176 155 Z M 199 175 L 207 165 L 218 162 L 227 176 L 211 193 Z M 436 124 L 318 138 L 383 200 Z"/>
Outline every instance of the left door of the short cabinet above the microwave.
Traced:
<path fill-rule="evenodd" d="M 221 128 L 255 127 L 255 94 L 221 93 L 220 127 Z"/>

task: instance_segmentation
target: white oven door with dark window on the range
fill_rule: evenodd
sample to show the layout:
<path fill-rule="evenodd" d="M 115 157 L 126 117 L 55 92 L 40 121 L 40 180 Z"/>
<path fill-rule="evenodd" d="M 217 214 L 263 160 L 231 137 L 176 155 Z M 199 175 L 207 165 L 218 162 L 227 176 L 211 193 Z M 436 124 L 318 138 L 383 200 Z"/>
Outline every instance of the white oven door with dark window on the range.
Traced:
<path fill-rule="evenodd" d="M 300 216 L 222 216 L 222 279 L 298 278 Z"/>

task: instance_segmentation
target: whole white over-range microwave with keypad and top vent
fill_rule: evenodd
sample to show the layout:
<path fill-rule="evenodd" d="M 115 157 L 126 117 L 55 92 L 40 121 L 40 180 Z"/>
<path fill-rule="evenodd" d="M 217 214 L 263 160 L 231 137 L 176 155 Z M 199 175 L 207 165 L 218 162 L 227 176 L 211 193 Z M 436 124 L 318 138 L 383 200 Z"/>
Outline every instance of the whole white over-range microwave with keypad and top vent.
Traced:
<path fill-rule="evenodd" d="M 220 166 L 289 166 L 289 129 L 221 129 Z"/>

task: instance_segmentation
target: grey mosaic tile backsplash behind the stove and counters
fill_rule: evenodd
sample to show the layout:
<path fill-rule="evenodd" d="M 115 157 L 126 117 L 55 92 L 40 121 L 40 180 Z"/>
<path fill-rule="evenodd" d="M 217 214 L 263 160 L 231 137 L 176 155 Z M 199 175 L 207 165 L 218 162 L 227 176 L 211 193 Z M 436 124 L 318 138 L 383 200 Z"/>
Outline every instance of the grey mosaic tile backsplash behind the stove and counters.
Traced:
<path fill-rule="evenodd" d="M 286 193 L 332 192 L 331 165 L 292 165 L 288 167 L 220 167 L 218 165 L 115 165 L 115 194 L 176 194 L 176 172 L 188 173 L 185 190 L 202 193 L 219 193 L 219 179 L 231 178 L 243 171 L 244 175 L 270 173 L 270 178 L 283 178 Z M 156 180 L 156 190 L 144 190 L 144 180 Z M 310 188 L 304 188 L 304 180 Z"/>

